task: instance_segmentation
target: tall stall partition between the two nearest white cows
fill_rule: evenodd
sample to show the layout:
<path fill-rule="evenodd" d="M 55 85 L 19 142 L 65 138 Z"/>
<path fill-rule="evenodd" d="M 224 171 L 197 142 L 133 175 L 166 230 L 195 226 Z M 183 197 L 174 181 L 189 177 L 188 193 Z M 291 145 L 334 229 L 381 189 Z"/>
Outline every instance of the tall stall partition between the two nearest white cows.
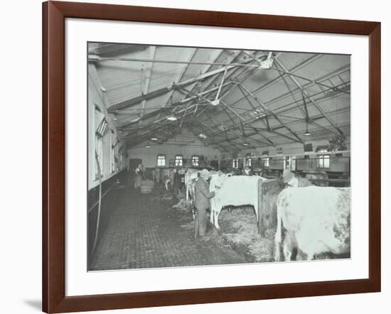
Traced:
<path fill-rule="evenodd" d="M 284 186 L 279 179 L 258 181 L 258 234 L 277 226 L 277 197 Z"/>

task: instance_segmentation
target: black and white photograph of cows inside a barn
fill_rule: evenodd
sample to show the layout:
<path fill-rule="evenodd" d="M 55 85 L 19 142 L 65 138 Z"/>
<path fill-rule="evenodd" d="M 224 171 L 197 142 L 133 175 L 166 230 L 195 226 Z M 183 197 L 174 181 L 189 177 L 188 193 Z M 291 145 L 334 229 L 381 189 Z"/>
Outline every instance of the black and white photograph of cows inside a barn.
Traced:
<path fill-rule="evenodd" d="M 87 270 L 350 259 L 350 55 L 87 43 Z"/>

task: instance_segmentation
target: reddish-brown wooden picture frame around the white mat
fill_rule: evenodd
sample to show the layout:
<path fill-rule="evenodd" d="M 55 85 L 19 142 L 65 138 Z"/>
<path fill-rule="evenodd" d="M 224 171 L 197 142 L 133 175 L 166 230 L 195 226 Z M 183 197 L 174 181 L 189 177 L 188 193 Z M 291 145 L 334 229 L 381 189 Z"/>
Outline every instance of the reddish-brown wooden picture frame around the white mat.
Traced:
<path fill-rule="evenodd" d="M 369 36 L 369 278 L 65 296 L 65 18 Z M 43 311 L 141 308 L 380 291 L 380 23 L 141 6 L 43 3 Z"/>

